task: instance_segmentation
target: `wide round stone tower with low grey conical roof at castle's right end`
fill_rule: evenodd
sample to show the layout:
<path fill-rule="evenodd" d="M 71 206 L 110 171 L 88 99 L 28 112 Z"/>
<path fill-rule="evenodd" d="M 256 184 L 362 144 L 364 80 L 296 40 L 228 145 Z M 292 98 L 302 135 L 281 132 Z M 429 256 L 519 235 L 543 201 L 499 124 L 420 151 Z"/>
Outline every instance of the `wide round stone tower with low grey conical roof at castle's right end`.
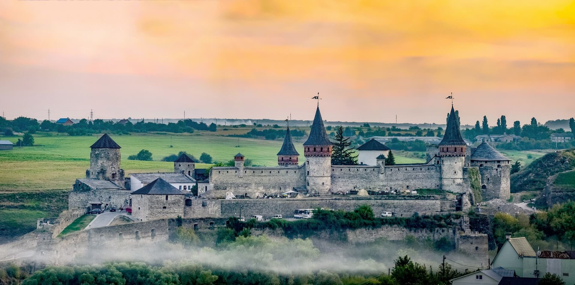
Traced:
<path fill-rule="evenodd" d="M 511 159 L 484 142 L 471 150 L 470 161 L 471 165 L 479 168 L 484 201 L 494 198 L 509 199 Z"/>

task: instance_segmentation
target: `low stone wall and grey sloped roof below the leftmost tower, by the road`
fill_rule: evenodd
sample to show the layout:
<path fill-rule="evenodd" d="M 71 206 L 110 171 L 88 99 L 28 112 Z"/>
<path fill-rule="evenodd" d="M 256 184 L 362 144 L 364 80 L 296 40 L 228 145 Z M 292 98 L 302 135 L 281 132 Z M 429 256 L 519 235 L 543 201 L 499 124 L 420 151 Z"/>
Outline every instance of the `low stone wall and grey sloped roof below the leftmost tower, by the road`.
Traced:
<path fill-rule="evenodd" d="M 76 180 L 74 190 L 68 194 L 68 209 L 86 209 L 90 207 L 92 201 L 102 202 L 102 208 L 108 204 L 108 207 L 126 207 L 129 205 L 129 198 L 131 196 L 130 190 L 93 190 L 85 183 L 80 184 Z"/>

